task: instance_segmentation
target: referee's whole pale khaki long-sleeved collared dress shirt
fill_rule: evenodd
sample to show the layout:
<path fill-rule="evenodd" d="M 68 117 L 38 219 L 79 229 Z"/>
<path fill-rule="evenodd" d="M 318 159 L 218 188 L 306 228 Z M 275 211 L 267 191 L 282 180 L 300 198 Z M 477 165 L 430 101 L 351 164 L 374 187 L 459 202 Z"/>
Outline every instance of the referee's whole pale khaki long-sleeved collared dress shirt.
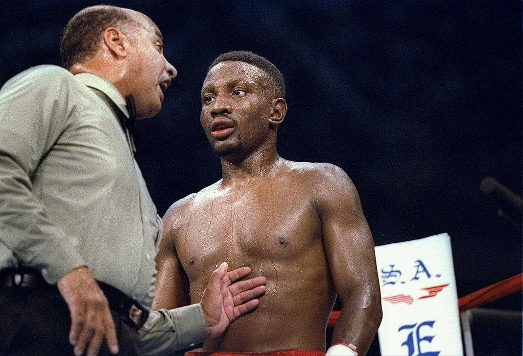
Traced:
<path fill-rule="evenodd" d="M 0 269 L 31 266 L 54 284 L 87 266 L 150 308 L 161 219 L 121 115 L 120 92 L 92 74 L 43 65 L 2 87 Z M 201 342 L 201 307 L 152 312 L 140 335 L 150 354 Z"/>

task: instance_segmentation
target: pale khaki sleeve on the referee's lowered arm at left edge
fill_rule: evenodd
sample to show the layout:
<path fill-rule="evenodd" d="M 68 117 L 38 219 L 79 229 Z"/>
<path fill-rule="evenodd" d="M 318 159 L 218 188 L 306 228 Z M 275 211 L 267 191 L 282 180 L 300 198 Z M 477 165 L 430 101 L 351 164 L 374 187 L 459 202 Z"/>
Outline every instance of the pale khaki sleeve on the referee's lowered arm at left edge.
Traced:
<path fill-rule="evenodd" d="M 86 265 L 64 230 L 48 218 L 31 181 L 75 109 L 69 100 L 72 82 L 63 68 L 39 66 L 0 90 L 0 241 L 51 284 Z"/>

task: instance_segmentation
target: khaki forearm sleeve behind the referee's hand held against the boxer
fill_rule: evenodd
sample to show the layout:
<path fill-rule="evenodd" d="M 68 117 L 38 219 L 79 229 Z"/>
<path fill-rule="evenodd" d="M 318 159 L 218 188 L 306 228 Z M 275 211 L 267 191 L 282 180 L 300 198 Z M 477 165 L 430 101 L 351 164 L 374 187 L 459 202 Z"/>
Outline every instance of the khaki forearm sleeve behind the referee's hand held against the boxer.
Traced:
<path fill-rule="evenodd" d="M 140 354 L 172 355 L 203 342 L 207 337 L 207 326 L 198 303 L 171 310 L 153 310 L 138 333 Z"/>

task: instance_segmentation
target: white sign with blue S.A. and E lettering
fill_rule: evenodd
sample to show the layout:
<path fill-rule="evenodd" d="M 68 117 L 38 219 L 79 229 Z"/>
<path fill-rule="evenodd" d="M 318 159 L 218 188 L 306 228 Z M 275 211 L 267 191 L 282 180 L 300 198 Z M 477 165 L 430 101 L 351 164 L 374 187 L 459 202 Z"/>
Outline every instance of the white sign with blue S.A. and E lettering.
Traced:
<path fill-rule="evenodd" d="M 463 355 L 450 236 L 376 246 L 385 355 Z"/>

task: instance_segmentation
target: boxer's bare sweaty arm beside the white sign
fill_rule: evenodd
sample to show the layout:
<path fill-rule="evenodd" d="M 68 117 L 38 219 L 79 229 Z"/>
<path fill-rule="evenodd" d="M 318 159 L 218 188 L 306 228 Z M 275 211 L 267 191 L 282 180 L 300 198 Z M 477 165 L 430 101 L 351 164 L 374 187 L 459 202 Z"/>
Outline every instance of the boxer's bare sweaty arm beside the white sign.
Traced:
<path fill-rule="evenodd" d="M 381 322 L 374 243 L 358 192 L 340 168 L 325 164 L 316 205 L 332 280 L 342 301 L 332 344 L 350 343 L 365 354 Z"/>

